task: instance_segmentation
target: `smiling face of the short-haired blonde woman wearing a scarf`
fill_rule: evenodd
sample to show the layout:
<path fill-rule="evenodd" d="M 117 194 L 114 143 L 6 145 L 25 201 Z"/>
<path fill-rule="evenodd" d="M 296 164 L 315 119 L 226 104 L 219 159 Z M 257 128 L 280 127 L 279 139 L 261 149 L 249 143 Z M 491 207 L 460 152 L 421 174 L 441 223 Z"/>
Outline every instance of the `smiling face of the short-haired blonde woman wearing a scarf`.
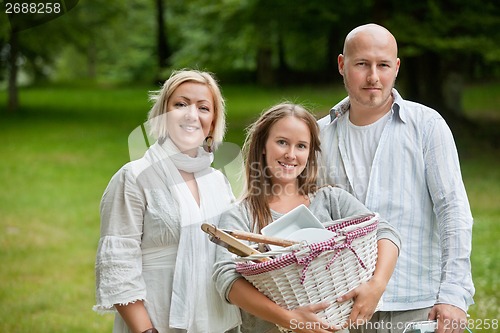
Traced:
<path fill-rule="evenodd" d="M 167 129 L 170 139 L 184 153 L 196 154 L 215 119 L 210 89 L 201 83 L 181 84 L 167 102 Z"/>

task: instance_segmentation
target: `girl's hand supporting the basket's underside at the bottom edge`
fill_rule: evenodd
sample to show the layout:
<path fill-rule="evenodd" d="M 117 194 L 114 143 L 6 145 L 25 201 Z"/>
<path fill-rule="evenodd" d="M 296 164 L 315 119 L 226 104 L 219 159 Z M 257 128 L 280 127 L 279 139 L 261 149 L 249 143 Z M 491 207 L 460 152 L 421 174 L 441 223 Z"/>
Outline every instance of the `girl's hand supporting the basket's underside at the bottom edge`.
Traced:
<path fill-rule="evenodd" d="M 286 327 L 293 330 L 295 333 L 325 333 L 336 332 L 342 329 L 339 326 L 329 324 L 316 314 L 321 310 L 325 310 L 328 306 L 329 304 L 327 302 L 322 302 L 295 308 L 290 311 L 292 319 L 290 319 Z"/>

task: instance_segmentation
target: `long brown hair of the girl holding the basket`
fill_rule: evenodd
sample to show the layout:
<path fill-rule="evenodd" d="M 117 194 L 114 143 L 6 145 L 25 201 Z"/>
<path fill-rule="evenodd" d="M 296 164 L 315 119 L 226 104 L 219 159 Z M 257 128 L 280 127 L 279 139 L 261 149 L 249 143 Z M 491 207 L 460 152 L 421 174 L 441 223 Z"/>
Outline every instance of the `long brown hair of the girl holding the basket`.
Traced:
<path fill-rule="evenodd" d="M 266 159 L 263 151 L 271 128 L 286 117 L 302 120 L 311 133 L 311 144 L 307 164 L 298 176 L 299 193 L 308 195 L 317 189 L 317 154 L 320 152 L 319 128 L 316 118 L 302 105 L 284 102 L 264 111 L 259 119 L 248 128 L 243 145 L 245 154 L 246 186 L 243 202 L 246 203 L 258 231 L 272 222 L 269 199 L 272 195 L 271 181 L 266 173 Z"/>

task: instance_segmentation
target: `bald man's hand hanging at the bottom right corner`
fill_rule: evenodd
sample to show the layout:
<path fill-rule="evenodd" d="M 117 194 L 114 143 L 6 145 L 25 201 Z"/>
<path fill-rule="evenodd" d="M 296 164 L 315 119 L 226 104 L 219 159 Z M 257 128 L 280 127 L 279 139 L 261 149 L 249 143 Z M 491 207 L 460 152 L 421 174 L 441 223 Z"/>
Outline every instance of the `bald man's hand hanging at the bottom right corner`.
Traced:
<path fill-rule="evenodd" d="M 467 326 L 467 314 L 450 304 L 434 305 L 429 320 L 437 320 L 436 333 L 462 333 Z"/>

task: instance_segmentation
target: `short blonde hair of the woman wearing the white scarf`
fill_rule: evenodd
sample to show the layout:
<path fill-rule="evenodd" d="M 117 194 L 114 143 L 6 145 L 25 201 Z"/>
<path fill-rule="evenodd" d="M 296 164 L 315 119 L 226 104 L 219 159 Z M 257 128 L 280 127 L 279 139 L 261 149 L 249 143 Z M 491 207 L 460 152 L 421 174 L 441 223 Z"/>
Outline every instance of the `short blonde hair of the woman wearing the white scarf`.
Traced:
<path fill-rule="evenodd" d="M 168 136 L 167 131 L 167 103 L 174 91 L 185 82 L 201 83 L 208 87 L 214 102 L 214 126 L 211 133 L 216 144 L 221 143 L 226 132 L 226 109 L 220 87 L 209 72 L 193 69 L 174 71 L 158 91 L 150 93 L 150 100 L 154 102 L 148 114 L 149 132 L 155 139 Z"/>

